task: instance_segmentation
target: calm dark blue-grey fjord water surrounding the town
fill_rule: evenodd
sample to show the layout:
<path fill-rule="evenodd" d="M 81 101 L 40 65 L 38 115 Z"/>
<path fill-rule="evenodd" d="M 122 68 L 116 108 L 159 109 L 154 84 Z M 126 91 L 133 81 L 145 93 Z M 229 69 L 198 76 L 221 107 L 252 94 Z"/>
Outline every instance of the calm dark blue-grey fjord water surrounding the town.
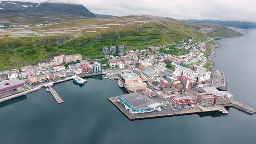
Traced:
<path fill-rule="evenodd" d="M 254 77 L 256 30 L 220 39 L 215 69 L 226 72 L 234 99 L 256 109 Z M 53 86 L 65 101 L 57 104 L 45 88 L 0 104 L 0 144 L 248 144 L 255 143 L 256 115 L 229 108 L 220 112 L 129 121 L 108 98 L 127 93 L 102 75 L 80 87 Z"/>

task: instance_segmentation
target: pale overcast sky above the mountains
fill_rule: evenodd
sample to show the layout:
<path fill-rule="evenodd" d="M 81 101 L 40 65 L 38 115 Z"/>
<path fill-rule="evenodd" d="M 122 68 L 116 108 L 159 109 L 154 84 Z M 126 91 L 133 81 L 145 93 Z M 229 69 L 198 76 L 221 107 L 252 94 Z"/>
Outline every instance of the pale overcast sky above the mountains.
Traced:
<path fill-rule="evenodd" d="M 44 0 L 16 0 L 42 2 Z M 74 0 L 52 0 L 74 3 Z M 152 15 L 174 19 L 215 19 L 256 22 L 255 0 L 75 0 L 92 13 L 115 16 Z"/>

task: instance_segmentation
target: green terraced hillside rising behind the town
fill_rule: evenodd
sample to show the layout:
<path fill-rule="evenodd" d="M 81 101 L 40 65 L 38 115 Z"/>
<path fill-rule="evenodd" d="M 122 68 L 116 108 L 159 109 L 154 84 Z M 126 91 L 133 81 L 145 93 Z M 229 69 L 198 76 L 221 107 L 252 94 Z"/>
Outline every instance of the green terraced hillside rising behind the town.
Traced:
<path fill-rule="evenodd" d="M 80 53 L 83 58 L 102 58 L 102 46 L 125 45 L 125 50 L 145 49 L 182 39 L 207 39 L 208 36 L 198 29 L 200 27 L 194 24 L 154 16 L 75 20 L 12 29 L 6 33 L 17 37 L 0 38 L 0 69 L 33 65 L 60 54 Z"/>

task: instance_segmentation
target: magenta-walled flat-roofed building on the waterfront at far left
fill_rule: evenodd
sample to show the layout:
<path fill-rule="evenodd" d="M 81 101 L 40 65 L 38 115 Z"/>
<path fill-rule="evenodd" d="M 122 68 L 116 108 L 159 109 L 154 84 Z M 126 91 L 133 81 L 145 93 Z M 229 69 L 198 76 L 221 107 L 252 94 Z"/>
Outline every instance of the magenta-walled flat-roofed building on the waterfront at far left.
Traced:
<path fill-rule="evenodd" d="M 0 97 L 9 95 L 13 90 L 21 90 L 24 86 L 24 82 L 19 79 L 10 79 L 0 82 Z"/>

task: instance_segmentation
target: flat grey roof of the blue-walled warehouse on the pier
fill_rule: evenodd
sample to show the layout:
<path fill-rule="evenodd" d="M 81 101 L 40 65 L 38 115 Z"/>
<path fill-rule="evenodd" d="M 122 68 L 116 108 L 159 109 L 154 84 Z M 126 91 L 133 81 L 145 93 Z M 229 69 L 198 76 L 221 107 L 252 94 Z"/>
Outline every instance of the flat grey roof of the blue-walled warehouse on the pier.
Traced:
<path fill-rule="evenodd" d="M 148 109 L 149 105 L 160 105 L 160 103 L 153 101 L 145 95 L 139 94 L 137 92 L 121 95 L 123 101 L 125 101 L 131 108 L 135 110 Z"/>

